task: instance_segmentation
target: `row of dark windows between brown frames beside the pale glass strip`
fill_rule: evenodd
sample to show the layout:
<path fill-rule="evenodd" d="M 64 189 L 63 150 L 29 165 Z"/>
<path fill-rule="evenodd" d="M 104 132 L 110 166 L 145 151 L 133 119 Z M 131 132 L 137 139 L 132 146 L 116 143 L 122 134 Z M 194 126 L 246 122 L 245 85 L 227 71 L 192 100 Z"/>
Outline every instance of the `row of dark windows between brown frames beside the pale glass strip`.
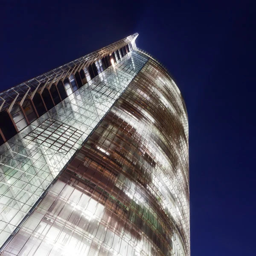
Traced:
<path fill-rule="evenodd" d="M 122 44 L 120 44 L 119 47 L 121 47 L 121 45 Z M 128 50 L 125 51 L 124 55 L 126 55 L 128 52 L 129 52 Z M 11 123 L 10 125 L 13 127 L 10 130 L 9 129 L 6 130 L 5 125 L 2 124 L 3 127 L 1 127 L 1 129 L 3 128 L 3 130 L 1 131 L 3 131 L 3 135 L 2 134 L 1 135 L 3 140 L 1 140 L 0 145 L 6 141 L 6 138 L 9 139 L 13 137 L 15 134 L 17 134 L 18 131 L 21 131 L 23 128 L 25 128 L 27 125 L 33 122 L 37 117 L 40 117 L 41 115 L 43 115 L 47 111 L 47 109 L 49 110 L 53 108 L 61 100 L 64 100 L 67 96 L 75 92 L 78 89 L 78 87 L 81 87 L 83 84 L 86 84 L 92 78 L 94 78 L 95 76 L 100 74 L 102 71 L 104 71 L 107 67 L 110 67 L 111 65 L 115 66 L 115 64 L 120 62 L 120 58 L 119 60 L 116 60 L 114 56 L 114 52 L 112 53 L 108 52 L 108 53 L 109 54 L 103 57 L 102 59 L 100 59 L 98 56 L 97 58 L 99 58 L 99 60 L 95 61 L 95 63 L 93 64 L 90 64 L 88 67 L 84 67 L 84 70 L 82 68 L 83 65 L 81 65 L 80 71 L 77 71 L 79 66 L 75 70 L 74 69 L 71 70 L 71 72 L 67 73 L 66 74 L 67 76 L 65 75 L 64 78 L 62 79 L 64 81 L 62 80 L 56 81 L 56 84 L 58 84 L 57 87 L 55 86 L 55 84 L 52 84 L 53 81 L 47 80 L 43 88 L 41 88 L 41 92 L 39 94 L 36 93 L 34 95 L 35 98 L 34 96 L 31 96 L 29 99 L 28 98 L 25 99 L 30 95 L 29 94 L 30 89 L 28 89 L 20 103 L 13 105 L 14 102 L 17 102 L 17 99 L 20 100 L 20 98 L 18 97 L 13 99 L 13 102 L 9 107 L 9 111 L 13 112 L 13 108 L 15 108 L 16 106 L 16 109 L 17 109 L 17 106 L 19 106 L 20 111 L 24 113 L 24 116 L 23 116 L 24 118 L 23 120 L 20 120 L 20 122 L 16 122 L 17 115 L 15 116 L 12 115 L 11 119 L 13 119 L 13 123 Z M 95 60 L 97 58 L 95 58 Z M 61 79 L 61 76 L 58 79 Z M 36 90 L 34 91 L 34 93 L 35 92 Z M 35 110 L 37 112 L 34 111 L 33 106 L 35 107 Z M 0 106 L 0 111 L 2 107 L 3 105 Z M 3 111 L 2 118 L 5 116 L 4 112 L 6 111 Z M 10 121 L 12 122 L 12 120 Z M 15 125 L 17 128 L 15 128 Z"/>

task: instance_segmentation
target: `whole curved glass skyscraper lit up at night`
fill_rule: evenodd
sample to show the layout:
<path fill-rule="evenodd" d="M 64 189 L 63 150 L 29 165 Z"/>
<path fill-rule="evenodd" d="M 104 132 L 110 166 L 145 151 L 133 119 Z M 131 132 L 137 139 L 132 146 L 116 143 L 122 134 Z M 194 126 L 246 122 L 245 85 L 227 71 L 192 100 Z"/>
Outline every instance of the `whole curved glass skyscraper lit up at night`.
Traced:
<path fill-rule="evenodd" d="M 1 256 L 190 255 L 186 107 L 137 35 L 0 93 Z"/>

